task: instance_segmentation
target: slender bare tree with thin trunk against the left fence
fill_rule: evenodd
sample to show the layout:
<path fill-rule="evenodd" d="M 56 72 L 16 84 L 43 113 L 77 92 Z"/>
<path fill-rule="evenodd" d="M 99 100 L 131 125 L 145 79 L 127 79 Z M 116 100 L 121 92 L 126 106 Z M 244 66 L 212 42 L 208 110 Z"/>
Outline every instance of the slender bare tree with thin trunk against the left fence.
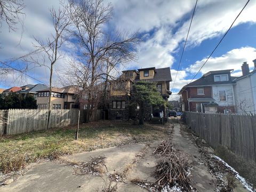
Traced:
<path fill-rule="evenodd" d="M 35 58 L 35 55 L 24 59 L 26 62 L 36 63 L 38 66 L 44 66 L 50 70 L 50 78 L 49 78 L 49 85 L 50 85 L 50 92 L 49 92 L 49 101 L 48 101 L 48 121 L 47 121 L 47 129 L 49 127 L 49 119 L 51 114 L 51 95 L 52 95 L 52 75 L 53 75 L 53 67 L 54 64 L 61 58 L 63 58 L 63 54 L 60 51 L 61 46 L 63 43 L 67 41 L 67 36 L 65 36 L 65 30 L 70 25 L 70 20 L 67 17 L 66 9 L 59 9 L 55 11 L 53 8 L 50 9 L 53 27 L 54 27 L 54 34 L 51 37 L 47 38 L 46 41 L 40 41 L 39 39 L 35 38 L 36 44 L 34 46 L 37 52 L 40 54 L 39 58 Z"/>

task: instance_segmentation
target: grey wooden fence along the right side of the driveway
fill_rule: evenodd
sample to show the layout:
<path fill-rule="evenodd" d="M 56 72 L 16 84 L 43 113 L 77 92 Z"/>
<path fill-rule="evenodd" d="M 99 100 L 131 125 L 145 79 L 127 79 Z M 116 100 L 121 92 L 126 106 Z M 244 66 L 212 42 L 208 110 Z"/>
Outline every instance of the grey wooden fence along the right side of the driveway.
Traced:
<path fill-rule="evenodd" d="M 256 163 L 255 115 L 185 112 L 183 118 L 213 148 L 226 146 L 247 161 Z"/>

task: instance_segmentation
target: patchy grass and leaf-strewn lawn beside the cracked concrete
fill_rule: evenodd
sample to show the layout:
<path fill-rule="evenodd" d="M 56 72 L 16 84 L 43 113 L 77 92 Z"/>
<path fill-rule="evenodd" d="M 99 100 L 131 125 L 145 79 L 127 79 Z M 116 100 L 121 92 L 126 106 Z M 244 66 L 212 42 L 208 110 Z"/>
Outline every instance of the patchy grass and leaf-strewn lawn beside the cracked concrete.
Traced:
<path fill-rule="evenodd" d="M 162 139 L 163 130 L 151 125 L 133 125 L 125 121 L 99 121 L 76 127 L 0 137 L 0 172 L 21 169 L 38 159 L 54 159 L 60 155 L 80 153 L 99 148 Z"/>

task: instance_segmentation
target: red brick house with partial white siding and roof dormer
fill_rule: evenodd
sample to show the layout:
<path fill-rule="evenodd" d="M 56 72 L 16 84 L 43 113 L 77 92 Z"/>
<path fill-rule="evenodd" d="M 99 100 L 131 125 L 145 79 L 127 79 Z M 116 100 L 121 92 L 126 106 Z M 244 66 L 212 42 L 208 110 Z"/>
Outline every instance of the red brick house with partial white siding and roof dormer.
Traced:
<path fill-rule="evenodd" d="M 209 71 L 201 78 L 182 87 L 182 111 L 202 113 L 235 112 L 233 69 Z"/>

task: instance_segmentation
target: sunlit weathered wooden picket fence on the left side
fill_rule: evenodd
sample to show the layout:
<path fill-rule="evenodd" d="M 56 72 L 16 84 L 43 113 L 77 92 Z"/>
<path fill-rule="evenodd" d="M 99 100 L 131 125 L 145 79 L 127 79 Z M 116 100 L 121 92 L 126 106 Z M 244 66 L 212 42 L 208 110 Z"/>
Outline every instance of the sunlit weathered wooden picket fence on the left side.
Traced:
<path fill-rule="evenodd" d="M 0 110 L 0 135 L 45 130 L 47 127 L 47 117 L 47 109 Z M 95 110 L 91 121 L 97 121 L 99 119 L 101 119 L 101 110 Z M 49 129 L 76 125 L 77 122 L 78 109 L 54 109 L 51 110 Z M 81 110 L 79 122 L 85 122 L 85 110 Z"/>

